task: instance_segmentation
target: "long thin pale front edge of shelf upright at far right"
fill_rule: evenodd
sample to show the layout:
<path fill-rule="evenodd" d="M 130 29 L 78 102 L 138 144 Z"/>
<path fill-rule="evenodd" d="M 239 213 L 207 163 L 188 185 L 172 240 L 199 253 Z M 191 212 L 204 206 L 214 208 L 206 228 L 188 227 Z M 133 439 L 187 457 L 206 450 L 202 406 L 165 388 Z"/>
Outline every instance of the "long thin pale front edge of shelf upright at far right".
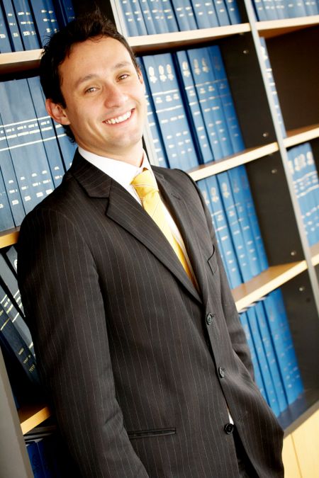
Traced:
<path fill-rule="evenodd" d="M 309 275 L 309 279 L 310 279 L 311 288 L 313 290 L 313 299 L 315 301 L 315 306 L 316 306 L 318 316 L 319 316 L 319 285 L 318 285 L 317 275 L 315 273 L 315 268 L 313 267 L 312 258 L 311 258 L 311 254 L 310 254 L 310 248 L 308 246 L 308 241 L 307 241 L 306 234 L 305 234 L 305 231 L 304 231 L 304 228 L 303 228 L 303 222 L 302 222 L 302 218 L 301 218 L 301 210 L 300 210 L 300 207 L 299 207 L 299 204 L 298 204 L 298 200 L 296 198 L 296 194 L 294 192 L 293 180 L 292 180 L 291 172 L 290 172 L 290 169 L 289 169 L 288 154 L 287 154 L 287 150 L 286 150 L 286 147 L 285 147 L 284 138 L 282 137 L 282 134 L 281 134 L 281 126 L 279 125 L 278 117 L 277 117 L 277 114 L 276 114 L 276 108 L 275 108 L 275 105 L 274 105 L 274 99 L 273 99 L 273 96 L 272 96 L 272 91 L 270 89 L 269 81 L 267 79 L 267 71 L 266 71 L 266 67 L 265 67 L 265 64 L 264 64 L 264 58 L 262 57 L 262 49 L 261 49 L 261 44 L 260 44 L 260 39 L 259 39 L 259 32 L 257 30 L 257 24 L 256 24 L 257 22 L 256 22 L 255 15 L 254 15 L 254 9 L 252 7 L 252 1 L 251 0 L 244 0 L 244 1 L 245 1 L 248 20 L 250 22 L 252 38 L 253 38 L 256 53 L 257 53 L 257 59 L 258 59 L 258 62 L 259 62 L 259 69 L 261 71 L 262 79 L 264 81 L 264 89 L 265 89 L 266 94 L 267 94 L 269 109 L 270 109 L 270 113 L 272 115 L 272 121 L 273 121 L 274 130 L 275 130 L 275 134 L 276 134 L 276 141 L 277 141 L 278 146 L 279 146 L 279 152 L 281 154 L 282 165 L 284 167 L 284 173 L 285 173 L 287 185 L 288 185 L 288 188 L 289 188 L 289 194 L 290 194 L 290 197 L 291 197 L 293 212 L 294 212 L 295 217 L 296 217 L 296 225 L 297 225 L 297 228 L 298 228 L 298 234 L 299 234 L 299 237 L 301 239 L 301 246 L 302 246 L 302 249 L 303 249 L 303 254 L 304 254 L 304 257 L 306 259 L 307 266 L 308 266 L 308 275 Z"/>

